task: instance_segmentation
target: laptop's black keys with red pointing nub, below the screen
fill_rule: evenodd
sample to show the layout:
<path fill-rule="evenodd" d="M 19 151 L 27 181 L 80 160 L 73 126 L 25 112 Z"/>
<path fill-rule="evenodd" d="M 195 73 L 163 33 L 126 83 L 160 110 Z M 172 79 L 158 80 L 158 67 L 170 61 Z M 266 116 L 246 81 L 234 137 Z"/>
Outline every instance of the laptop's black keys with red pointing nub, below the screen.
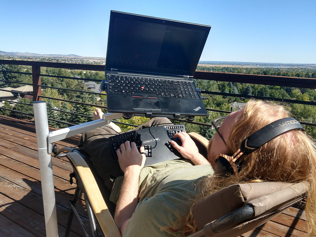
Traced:
<path fill-rule="evenodd" d="M 107 75 L 110 93 L 135 94 L 135 97 L 151 98 L 166 96 L 171 98 L 199 98 L 191 81 L 161 78 Z"/>

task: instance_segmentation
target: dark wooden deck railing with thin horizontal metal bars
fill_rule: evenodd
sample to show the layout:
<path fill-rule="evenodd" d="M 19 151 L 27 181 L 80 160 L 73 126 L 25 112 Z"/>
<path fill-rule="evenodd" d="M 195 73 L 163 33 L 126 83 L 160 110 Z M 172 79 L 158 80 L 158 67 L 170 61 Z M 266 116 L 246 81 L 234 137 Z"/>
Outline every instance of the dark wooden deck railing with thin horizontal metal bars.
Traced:
<path fill-rule="evenodd" d="M 75 90 L 75 89 L 69 89 L 69 88 L 60 88 L 60 87 L 41 85 L 41 76 L 101 82 L 101 80 L 97 80 L 97 79 L 87 79 L 87 78 L 77 78 L 77 77 L 41 74 L 41 67 L 72 69 L 72 70 L 104 71 L 105 70 L 104 65 L 69 64 L 69 63 L 53 63 L 53 62 L 39 62 L 39 61 L 23 61 L 23 60 L 0 60 L 0 64 L 24 65 L 24 66 L 31 66 L 32 67 L 32 73 L 0 70 L 0 73 L 17 73 L 17 74 L 32 75 L 32 82 L 33 82 L 32 84 L 31 83 L 5 81 L 5 80 L 1 80 L 0 82 L 19 83 L 22 85 L 33 86 L 33 94 L 23 93 L 23 92 L 15 92 L 15 93 L 20 93 L 20 94 L 32 95 L 33 101 L 39 101 L 42 98 L 46 98 L 46 99 L 51 99 L 51 100 L 70 102 L 70 103 L 79 104 L 79 105 L 96 106 L 96 107 L 101 107 L 101 108 L 105 108 L 105 109 L 107 108 L 107 106 L 83 103 L 83 102 L 74 101 L 74 100 L 65 100 L 65 99 L 53 98 L 53 97 L 49 97 L 49 96 L 43 96 L 41 94 L 41 88 L 52 88 L 52 89 L 57 89 L 57 90 L 73 91 L 73 92 L 78 92 L 78 93 L 105 95 L 102 93 L 96 93 L 96 92 L 91 92 L 91 91 L 82 91 L 82 90 Z M 312 79 L 312 78 L 254 75 L 254 74 L 237 74 L 237 73 L 222 73 L 222 72 L 205 72 L 205 71 L 196 71 L 194 78 L 200 79 L 200 80 L 209 80 L 209 81 L 240 82 L 240 83 L 269 85 L 269 86 L 284 86 L 284 87 L 316 89 L 316 81 L 315 81 L 316 79 Z M 202 91 L 201 91 L 202 94 L 213 94 L 213 95 L 240 97 L 240 98 L 254 98 L 254 99 L 260 99 L 260 100 L 274 100 L 274 101 L 280 101 L 283 103 L 296 103 L 296 104 L 313 105 L 313 106 L 316 105 L 316 102 L 312 102 L 312 101 L 289 100 L 289 99 L 282 99 L 282 98 L 262 97 L 262 96 L 244 95 L 244 94 L 220 93 L 220 92 L 206 91 L 206 90 L 203 90 L 203 88 L 201 88 L 201 89 L 202 89 Z M 5 90 L 2 88 L 0 88 L 0 91 L 12 92 L 12 91 Z M 9 100 L 4 100 L 4 99 L 1 99 L 1 100 L 8 101 L 8 102 L 12 103 L 12 101 L 9 101 Z M 20 102 L 14 102 L 14 103 L 15 104 L 30 105 L 30 106 L 32 105 L 32 104 L 25 104 L 25 103 L 20 103 Z M 1 109 L 17 112 L 16 110 L 3 108 L 3 107 L 0 107 L 0 110 Z M 47 109 L 57 111 L 57 112 L 64 112 L 64 113 L 68 113 L 68 114 L 76 115 L 76 116 L 88 117 L 91 119 L 93 118 L 92 116 L 89 116 L 89 115 L 78 114 L 78 113 L 68 112 L 68 111 L 62 111 L 62 110 L 55 109 L 55 108 L 47 108 Z M 207 111 L 220 112 L 220 113 L 230 113 L 231 112 L 231 111 L 223 111 L 223 110 L 210 109 L 210 108 L 207 108 Z M 26 113 L 23 111 L 21 111 L 19 113 L 25 114 L 27 116 L 32 116 L 32 117 L 34 116 L 33 114 Z M 49 120 L 55 121 L 58 123 L 64 123 L 67 125 L 75 125 L 75 124 L 69 123 L 68 121 L 60 121 L 60 120 L 50 119 L 50 118 L 49 118 Z M 173 120 L 182 121 L 181 119 L 173 119 Z M 129 126 L 137 126 L 137 125 L 121 123 L 121 122 L 117 122 L 117 121 L 113 121 L 113 122 L 119 123 L 119 124 L 124 124 L 124 125 L 129 125 Z M 185 121 L 185 122 L 195 124 L 195 125 L 207 126 L 207 127 L 211 126 L 210 124 L 206 124 L 206 123 L 189 122 L 189 121 Z M 300 121 L 300 122 L 301 122 L 301 124 L 304 124 L 304 125 L 316 126 L 315 123 L 309 123 L 306 121 Z"/>

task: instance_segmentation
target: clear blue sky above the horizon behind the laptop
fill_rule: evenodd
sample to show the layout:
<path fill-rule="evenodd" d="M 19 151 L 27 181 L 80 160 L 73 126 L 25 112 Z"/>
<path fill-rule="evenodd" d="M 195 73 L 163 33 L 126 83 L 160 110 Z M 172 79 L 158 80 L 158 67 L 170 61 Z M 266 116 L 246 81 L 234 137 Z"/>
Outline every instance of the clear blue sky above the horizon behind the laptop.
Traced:
<path fill-rule="evenodd" d="M 0 50 L 105 57 L 110 10 L 212 26 L 200 60 L 316 63 L 316 0 L 0 0 Z"/>

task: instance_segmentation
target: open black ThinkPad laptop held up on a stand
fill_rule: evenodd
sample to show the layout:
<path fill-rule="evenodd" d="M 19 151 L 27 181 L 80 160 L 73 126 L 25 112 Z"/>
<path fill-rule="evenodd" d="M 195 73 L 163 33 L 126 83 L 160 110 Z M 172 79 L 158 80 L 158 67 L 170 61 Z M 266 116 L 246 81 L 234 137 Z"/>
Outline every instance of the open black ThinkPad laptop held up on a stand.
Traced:
<path fill-rule="evenodd" d="M 111 11 L 106 51 L 108 112 L 207 116 L 193 75 L 210 26 Z"/>

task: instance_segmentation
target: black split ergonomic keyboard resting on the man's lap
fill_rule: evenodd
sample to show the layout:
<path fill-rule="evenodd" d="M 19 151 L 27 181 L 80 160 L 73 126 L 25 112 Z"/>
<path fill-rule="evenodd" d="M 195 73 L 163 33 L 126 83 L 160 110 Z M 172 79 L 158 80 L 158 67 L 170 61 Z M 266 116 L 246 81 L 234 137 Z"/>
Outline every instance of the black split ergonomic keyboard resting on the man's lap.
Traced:
<path fill-rule="evenodd" d="M 139 129 L 125 132 L 109 138 L 112 155 L 118 159 L 117 150 L 126 141 L 135 142 L 137 149 L 144 146 L 146 153 L 145 165 L 155 164 L 161 161 L 183 158 L 180 153 L 173 148 L 170 141 L 174 140 L 181 146 L 179 138 L 173 138 L 178 132 L 185 132 L 185 126 L 167 125 Z"/>

